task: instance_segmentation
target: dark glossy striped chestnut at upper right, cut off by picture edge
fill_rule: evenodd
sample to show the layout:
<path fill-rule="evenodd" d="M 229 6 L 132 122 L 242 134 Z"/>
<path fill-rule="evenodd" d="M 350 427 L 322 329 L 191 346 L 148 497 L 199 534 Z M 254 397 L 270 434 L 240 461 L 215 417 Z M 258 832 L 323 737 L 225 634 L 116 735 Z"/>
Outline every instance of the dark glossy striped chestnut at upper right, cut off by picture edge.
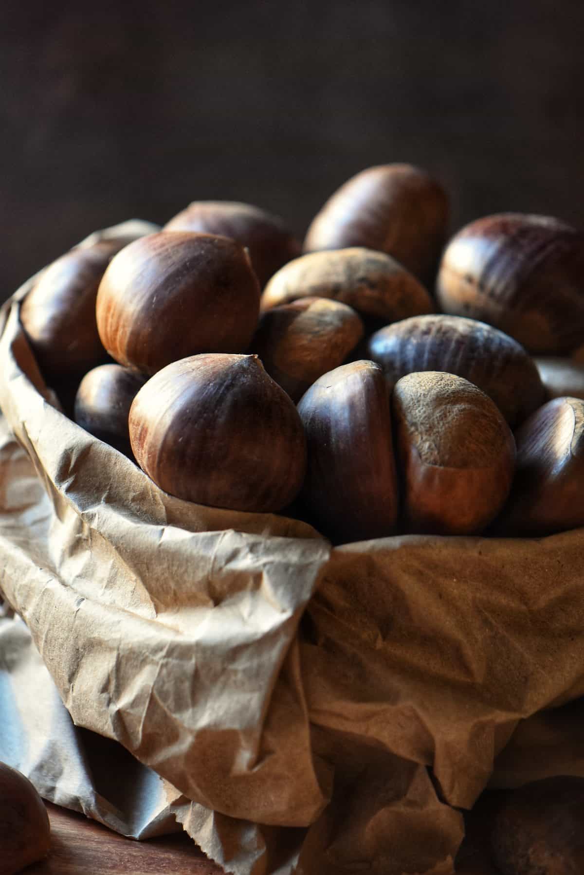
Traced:
<path fill-rule="evenodd" d="M 440 308 L 482 319 L 530 353 L 584 343 L 584 234 L 552 217 L 498 214 L 454 235 L 436 283 Z"/>

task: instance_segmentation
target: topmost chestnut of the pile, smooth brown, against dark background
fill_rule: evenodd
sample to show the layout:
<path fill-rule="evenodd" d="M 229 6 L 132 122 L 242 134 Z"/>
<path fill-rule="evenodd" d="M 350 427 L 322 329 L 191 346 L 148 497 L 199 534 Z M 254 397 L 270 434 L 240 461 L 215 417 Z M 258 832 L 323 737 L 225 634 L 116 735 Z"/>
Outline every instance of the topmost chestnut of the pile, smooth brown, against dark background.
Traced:
<path fill-rule="evenodd" d="M 436 179 L 412 165 L 380 165 L 357 173 L 327 200 L 304 249 L 379 249 L 429 283 L 447 223 L 447 193 Z"/>

